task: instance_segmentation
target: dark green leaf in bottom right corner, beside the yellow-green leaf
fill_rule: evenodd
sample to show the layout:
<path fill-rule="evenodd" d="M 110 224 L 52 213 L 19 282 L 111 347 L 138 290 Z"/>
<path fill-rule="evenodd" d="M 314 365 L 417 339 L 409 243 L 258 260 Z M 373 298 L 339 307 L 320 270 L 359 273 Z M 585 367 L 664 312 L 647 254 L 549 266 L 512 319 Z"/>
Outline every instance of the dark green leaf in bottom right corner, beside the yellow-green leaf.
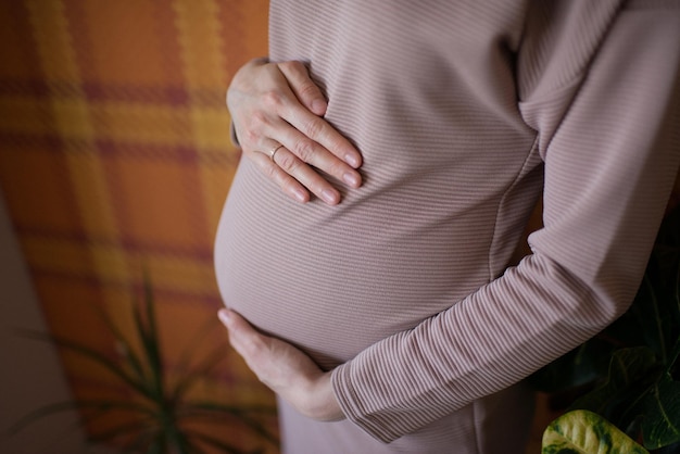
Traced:
<path fill-rule="evenodd" d="M 642 421 L 644 445 L 650 450 L 680 441 L 680 382 L 664 375 L 646 395 Z"/>

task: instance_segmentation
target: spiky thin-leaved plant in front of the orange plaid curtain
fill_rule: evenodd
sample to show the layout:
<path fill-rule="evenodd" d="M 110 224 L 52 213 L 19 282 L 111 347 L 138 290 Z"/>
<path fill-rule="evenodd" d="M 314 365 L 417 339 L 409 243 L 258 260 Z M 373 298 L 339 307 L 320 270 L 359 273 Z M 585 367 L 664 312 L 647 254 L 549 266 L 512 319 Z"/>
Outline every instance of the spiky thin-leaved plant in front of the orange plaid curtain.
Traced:
<path fill-rule="evenodd" d="M 17 432 L 37 419 L 65 411 L 79 411 L 84 424 L 117 412 L 125 415 L 125 421 L 89 433 L 91 441 L 115 443 L 126 452 L 148 454 L 201 454 L 209 446 L 224 453 L 264 452 L 263 446 L 243 451 L 213 433 L 196 428 L 197 423 L 215 423 L 226 418 L 231 425 L 256 433 L 264 445 L 268 443 L 277 446 L 277 437 L 267 429 L 264 421 L 276 414 L 275 407 L 230 405 L 224 402 L 196 400 L 189 395 L 192 387 L 207 377 L 226 356 L 225 344 L 213 348 L 212 352 L 193 367 L 187 366 L 180 378 L 171 379 L 163 361 L 154 297 L 149 282 L 149 279 L 144 279 L 144 295 L 131 307 L 134 337 L 124 336 L 122 330 L 102 313 L 102 319 L 119 351 L 116 358 L 111 358 L 105 353 L 72 339 L 24 331 L 24 335 L 30 338 L 53 342 L 81 358 L 102 366 L 124 386 L 127 395 L 119 399 L 78 399 L 46 405 L 23 417 L 10 431 Z M 138 342 L 133 343 L 135 337 Z M 135 350 L 133 345 L 140 348 Z M 185 352 L 185 357 L 191 356 L 194 350 L 189 349 Z M 228 427 L 222 427 L 223 432 L 227 430 Z"/>

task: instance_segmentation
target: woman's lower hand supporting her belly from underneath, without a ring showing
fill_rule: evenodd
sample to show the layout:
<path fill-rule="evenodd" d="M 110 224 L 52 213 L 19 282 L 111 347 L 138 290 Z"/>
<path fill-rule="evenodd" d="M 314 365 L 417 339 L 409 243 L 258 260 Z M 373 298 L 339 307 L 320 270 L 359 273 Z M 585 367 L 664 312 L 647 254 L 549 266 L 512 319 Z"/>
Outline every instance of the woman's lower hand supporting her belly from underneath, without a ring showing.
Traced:
<path fill-rule="evenodd" d="M 304 416 L 325 421 L 344 418 L 329 371 L 293 345 L 257 332 L 236 312 L 223 308 L 218 315 L 229 330 L 231 346 L 260 381 Z"/>

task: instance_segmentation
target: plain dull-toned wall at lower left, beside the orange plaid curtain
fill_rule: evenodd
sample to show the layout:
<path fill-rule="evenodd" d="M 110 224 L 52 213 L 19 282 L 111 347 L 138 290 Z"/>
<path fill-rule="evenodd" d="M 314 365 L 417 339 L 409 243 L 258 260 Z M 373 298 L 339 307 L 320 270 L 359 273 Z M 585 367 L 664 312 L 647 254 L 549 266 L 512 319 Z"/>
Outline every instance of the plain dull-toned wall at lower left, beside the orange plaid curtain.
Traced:
<path fill-rule="evenodd" d="M 54 349 L 23 339 L 16 328 L 47 329 L 0 192 L 0 453 L 100 453 L 87 446 L 78 419 L 68 413 L 8 436 L 7 429 L 21 416 L 70 399 Z"/>

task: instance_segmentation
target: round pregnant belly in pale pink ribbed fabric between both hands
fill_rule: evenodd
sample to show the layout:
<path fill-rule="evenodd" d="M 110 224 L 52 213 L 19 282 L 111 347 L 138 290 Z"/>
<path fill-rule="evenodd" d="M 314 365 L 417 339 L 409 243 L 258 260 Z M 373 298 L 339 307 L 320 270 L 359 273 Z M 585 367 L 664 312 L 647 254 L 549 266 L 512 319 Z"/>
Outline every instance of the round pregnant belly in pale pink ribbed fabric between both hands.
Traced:
<path fill-rule="evenodd" d="M 225 304 L 327 368 L 488 279 L 483 236 L 453 241 L 450 212 L 360 192 L 299 204 L 243 162 L 215 243 Z"/>

